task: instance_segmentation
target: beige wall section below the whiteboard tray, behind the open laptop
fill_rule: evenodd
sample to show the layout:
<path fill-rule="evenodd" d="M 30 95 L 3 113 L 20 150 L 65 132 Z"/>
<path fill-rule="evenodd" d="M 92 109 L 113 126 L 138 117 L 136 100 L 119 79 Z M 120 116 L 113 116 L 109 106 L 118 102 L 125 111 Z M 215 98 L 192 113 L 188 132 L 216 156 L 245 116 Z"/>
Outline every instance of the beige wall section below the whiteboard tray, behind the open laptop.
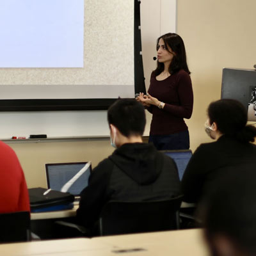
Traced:
<path fill-rule="evenodd" d="M 46 188 L 45 163 L 91 161 L 92 167 L 95 167 L 113 152 L 109 138 L 46 143 L 20 141 L 9 145 L 20 159 L 29 188 Z"/>

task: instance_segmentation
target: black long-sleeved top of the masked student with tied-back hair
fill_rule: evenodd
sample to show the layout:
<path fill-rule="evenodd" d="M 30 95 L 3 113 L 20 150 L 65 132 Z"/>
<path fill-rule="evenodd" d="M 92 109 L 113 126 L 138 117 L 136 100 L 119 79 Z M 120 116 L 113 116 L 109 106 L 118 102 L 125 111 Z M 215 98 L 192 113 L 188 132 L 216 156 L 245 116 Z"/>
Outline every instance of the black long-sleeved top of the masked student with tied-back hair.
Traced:
<path fill-rule="evenodd" d="M 255 173 L 255 166 L 256 145 L 252 143 L 241 143 L 223 135 L 217 141 L 201 144 L 182 177 L 183 200 L 189 203 L 207 200 L 221 180 L 232 175 L 239 177 L 246 170 Z"/>

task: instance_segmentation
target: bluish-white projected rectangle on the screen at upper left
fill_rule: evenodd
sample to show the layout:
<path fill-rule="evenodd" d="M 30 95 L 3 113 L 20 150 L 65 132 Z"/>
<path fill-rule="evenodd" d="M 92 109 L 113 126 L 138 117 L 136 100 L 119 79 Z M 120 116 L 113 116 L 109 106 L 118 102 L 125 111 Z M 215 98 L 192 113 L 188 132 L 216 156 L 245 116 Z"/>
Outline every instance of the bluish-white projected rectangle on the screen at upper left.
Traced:
<path fill-rule="evenodd" d="M 83 67 L 83 0 L 0 2 L 0 67 Z"/>

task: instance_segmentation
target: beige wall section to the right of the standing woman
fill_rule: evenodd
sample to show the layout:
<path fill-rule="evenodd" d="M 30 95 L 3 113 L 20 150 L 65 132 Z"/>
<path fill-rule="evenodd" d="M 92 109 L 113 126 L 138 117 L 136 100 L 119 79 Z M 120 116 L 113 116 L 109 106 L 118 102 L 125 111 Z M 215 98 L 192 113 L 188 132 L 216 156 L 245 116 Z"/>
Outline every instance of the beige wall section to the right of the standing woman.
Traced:
<path fill-rule="evenodd" d="M 220 99 L 222 68 L 256 64 L 256 1 L 177 2 L 177 33 L 186 44 L 195 96 L 193 115 L 187 122 L 195 150 L 210 141 L 204 132 L 206 108 Z"/>

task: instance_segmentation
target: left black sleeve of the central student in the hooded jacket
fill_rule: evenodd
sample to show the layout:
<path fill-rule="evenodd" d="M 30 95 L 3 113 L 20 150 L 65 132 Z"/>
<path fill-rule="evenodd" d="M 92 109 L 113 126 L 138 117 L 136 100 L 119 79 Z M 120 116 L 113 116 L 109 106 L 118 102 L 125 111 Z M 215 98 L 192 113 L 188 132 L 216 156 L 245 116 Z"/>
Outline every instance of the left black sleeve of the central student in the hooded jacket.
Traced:
<path fill-rule="evenodd" d="M 84 227 L 91 228 L 99 219 L 102 207 L 108 200 L 106 189 L 112 172 L 113 164 L 105 159 L 96 166 L 89 179 L 89 184 L 81 192 L 79 208 L 77 209 L 77 221 Z"/>

